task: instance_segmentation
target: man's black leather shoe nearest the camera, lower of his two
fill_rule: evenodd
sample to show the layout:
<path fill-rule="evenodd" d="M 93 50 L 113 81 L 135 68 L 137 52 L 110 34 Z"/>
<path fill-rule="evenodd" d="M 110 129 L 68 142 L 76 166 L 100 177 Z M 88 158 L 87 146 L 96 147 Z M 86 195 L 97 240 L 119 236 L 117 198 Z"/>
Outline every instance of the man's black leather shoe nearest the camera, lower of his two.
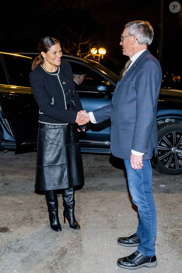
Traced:
<path fill-rule="evenodd" d="M 142 266 L 153 267 L 157 265 L 156 256 L 147 257 L 143 256 L 138 250 L 127 257 L 118 259 L 117 265 L 127 269 L 137 269 Z"/>

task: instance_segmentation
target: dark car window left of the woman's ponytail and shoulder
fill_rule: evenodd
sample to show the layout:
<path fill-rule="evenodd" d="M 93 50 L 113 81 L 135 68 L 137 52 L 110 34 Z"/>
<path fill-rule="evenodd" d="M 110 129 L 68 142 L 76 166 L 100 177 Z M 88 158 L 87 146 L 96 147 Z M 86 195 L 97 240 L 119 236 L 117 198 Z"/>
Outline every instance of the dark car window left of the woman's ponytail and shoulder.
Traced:
<path fill-rule="evenodd" d="M 8 80 L 10 85 L 30 87 L 30 59 L 8 54 L 2 54 L 2 57 L 8 71 Z"/>

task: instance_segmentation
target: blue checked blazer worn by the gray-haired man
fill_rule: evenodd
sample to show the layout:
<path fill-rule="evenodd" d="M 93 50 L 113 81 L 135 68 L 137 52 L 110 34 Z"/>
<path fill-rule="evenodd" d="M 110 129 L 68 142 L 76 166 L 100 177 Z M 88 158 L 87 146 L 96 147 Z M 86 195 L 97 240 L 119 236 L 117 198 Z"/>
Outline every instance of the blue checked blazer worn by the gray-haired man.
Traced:
<path fill-rule="evenodd" d="M 157 104 L 162 82 L 158 60 L 145 50 L 118 81 L 110 105 L 94 110 L 97 123 L 111 119 L 110 149 L 114 156 L 130 159 L 131 149 L 157 154 Z"/>

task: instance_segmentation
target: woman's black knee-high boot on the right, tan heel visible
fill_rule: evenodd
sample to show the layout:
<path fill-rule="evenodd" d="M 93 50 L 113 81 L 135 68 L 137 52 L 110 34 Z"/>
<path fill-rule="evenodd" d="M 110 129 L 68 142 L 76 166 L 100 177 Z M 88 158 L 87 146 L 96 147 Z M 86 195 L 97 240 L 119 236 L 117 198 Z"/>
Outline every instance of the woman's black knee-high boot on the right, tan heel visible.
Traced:
<path fill-rule="evenodd" d="M 69 226 L 74 229 L 80 229 L 80 225 L 75 219 L 74 215 L 74 206 L 75 206 L 75 199 L 74 199 L 74 188 L 67 188 L 62 189 L 62 198 L 63 198 L 63 216 L 64 216 L 64 223 L 69 222 Z"/>

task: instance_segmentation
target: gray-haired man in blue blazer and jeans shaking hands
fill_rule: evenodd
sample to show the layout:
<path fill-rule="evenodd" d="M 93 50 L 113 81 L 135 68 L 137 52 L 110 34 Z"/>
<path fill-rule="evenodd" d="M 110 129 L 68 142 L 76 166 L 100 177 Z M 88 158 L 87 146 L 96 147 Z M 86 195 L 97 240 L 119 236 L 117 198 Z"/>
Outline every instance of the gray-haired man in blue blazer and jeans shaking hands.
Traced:
<path fill-rule="evenodd" d="M 158 147 L 156 112 L 162 71 L 158 60 L 147 50 L 152 40 L 153 28 L 149 22 L 125 25 L 120 45 L 123 55 L 130 60 L 121 71 L 112 102 L 89 112 L 89 116 L 82 112 L 93 123 L 111 119 L 110 149 L 114 156 L 124 159 L 132 202 L 139 214 L 136 232 L 118 239 L 122 246 L 138 246 L 133 254 L 117 261 L 120 267 L 128 269 L 157 265 L 150 159 L 153 150 L 157 154 Z"/>

